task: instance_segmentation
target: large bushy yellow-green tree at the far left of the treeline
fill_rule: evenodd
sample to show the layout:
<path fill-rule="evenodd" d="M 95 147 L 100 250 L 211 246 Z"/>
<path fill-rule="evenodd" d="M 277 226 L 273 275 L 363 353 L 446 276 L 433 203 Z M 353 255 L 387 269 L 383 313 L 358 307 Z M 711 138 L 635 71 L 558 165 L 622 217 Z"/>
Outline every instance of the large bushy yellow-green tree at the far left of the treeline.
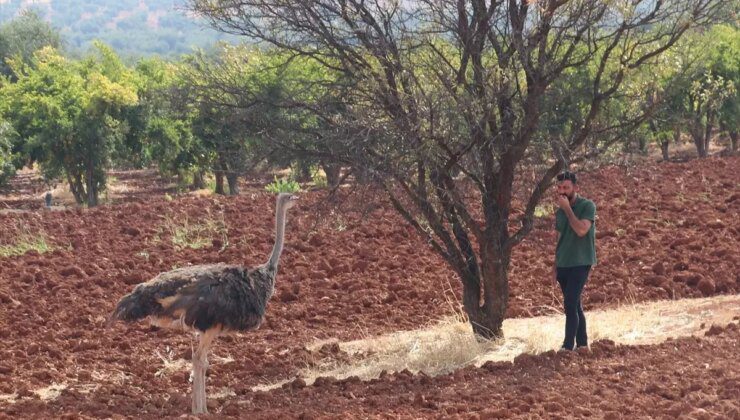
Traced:
<path fill-rule="evenodd" d="M 101 44 L 80 61 L 46 47 L 12 68 L 17 82 L 0 89 L 3 114 L 47 178 L 66 179 L 78 204 L 97 205 L 111 151 L 127 130 L 121 111 L 138 100 L 133 73 Z"/>

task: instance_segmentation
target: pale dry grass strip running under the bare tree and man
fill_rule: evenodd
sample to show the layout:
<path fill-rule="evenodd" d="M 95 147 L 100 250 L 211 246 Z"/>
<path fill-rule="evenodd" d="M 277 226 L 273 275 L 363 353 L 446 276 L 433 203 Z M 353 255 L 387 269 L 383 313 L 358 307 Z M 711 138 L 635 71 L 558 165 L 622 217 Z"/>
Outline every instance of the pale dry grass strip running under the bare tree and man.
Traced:
<path fill-rule="evenodd" d="M 609 339 L 618 344 L 636 345 L 701 334 L 712 324 L 732 322 L 738 313 L 740 295 L 623 305 L 588 311 L 587 316 L 591 341 Z M 556 350 L 562 343 L 564 325 L 562 314 L 508 319 L 503 326 L 504 339 L 478 342 L 464 319 L 459 315 L 451 316 L 413 331 L 341 343 L 336 340 L 313 343 L 307 346 L 313 352 L 337 343 L 344 357 L 325 357 L 296 376 L 307 384 L 321 376 L 337 379 L 358 376 L 367 380 L 377 378 L 382 371 L 404 369 L 435 376 L 467 365 L 480 366 L 487 361 L 511 361 L 522 353 Z M 254 389 L 269 390 L 285 382 L 288 380 Z"/>

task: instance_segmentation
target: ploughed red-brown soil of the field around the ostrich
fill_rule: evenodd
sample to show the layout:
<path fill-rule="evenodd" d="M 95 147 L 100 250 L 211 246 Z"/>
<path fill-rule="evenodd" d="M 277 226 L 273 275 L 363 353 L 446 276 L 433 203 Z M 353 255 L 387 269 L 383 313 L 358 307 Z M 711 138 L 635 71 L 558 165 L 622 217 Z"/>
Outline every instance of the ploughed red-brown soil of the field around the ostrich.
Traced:
<path fill-rule="evenodd" d="M 710 158 L 584 174 L 582 192 L 597 204 L 599 238 L 586 309 L 738 293 L 738 168 L 738 158 Z M 0 214 L 2 242 L 12 241 L 20 223 L 45 232 L 58 247 L 0 259 L 0 394 L 17 395 L 12 404 L 0 400 L 0 414 L 157 418 L 189 411 L 187 374 L 155 374 L 163 366 L 158 353 L 187 358 L 190 337 L 144 324 L 106 329 L 105 319 L 134 284 L 161 271 L 189 263 L 264 262 L 272 244 L 274 202 L 259 188 L 235 198 L 168 201 L 163 184 L 148 193 L 145 182 L 139 185 L 141 190 L 120 203 L 95 209 Z M 16 203 L 36 208 L 31 199 L 13 200 L 0 196 L 0 208 Z M 355 203 L 349 210 L 317 219 L 323 194 L 311 192 L 291 211 L 266 322 L 215 346 L 216 356 L 234 361 L 212 364 L 209 392 L 228 387 L 236 395 L 211 400 L 214 410 L 264 418 L 304 410 L 341 417 L 457 412 L 489 418 L 494 413 L 485 410 L 567 416 L 565 408 L 576 405 L 597 417 L 626 409 L 670 417 L 679 409 L 704 409 L 709 416 L 738 417 L 735 330 L 660 346 L 602 344 L 591 355 L 524 357 L 513 366 L 470 368 L 434 380 L 398 374 L 373 383 L 251 392 L 258 383 L 290 378 L 310 364 L 315 355 L 304 346 L 316 339 L 412 329 L 452 311 L 448 301 L 459 296 L 459 282 L 442 260 L 390 206 L 350 200 Z M 176 249 L 162 229 L 168 219 L 186 218 L 223 221 L 228 241 L 214 237 L 212 246 Z M 552 224 L 551 215 L 538 219 L 515 250 L 511 316 L 560 306 L 550 278 Z M 41 401 L 32 392 L 54 383 L 67 386 L 54 401 Z"/>

